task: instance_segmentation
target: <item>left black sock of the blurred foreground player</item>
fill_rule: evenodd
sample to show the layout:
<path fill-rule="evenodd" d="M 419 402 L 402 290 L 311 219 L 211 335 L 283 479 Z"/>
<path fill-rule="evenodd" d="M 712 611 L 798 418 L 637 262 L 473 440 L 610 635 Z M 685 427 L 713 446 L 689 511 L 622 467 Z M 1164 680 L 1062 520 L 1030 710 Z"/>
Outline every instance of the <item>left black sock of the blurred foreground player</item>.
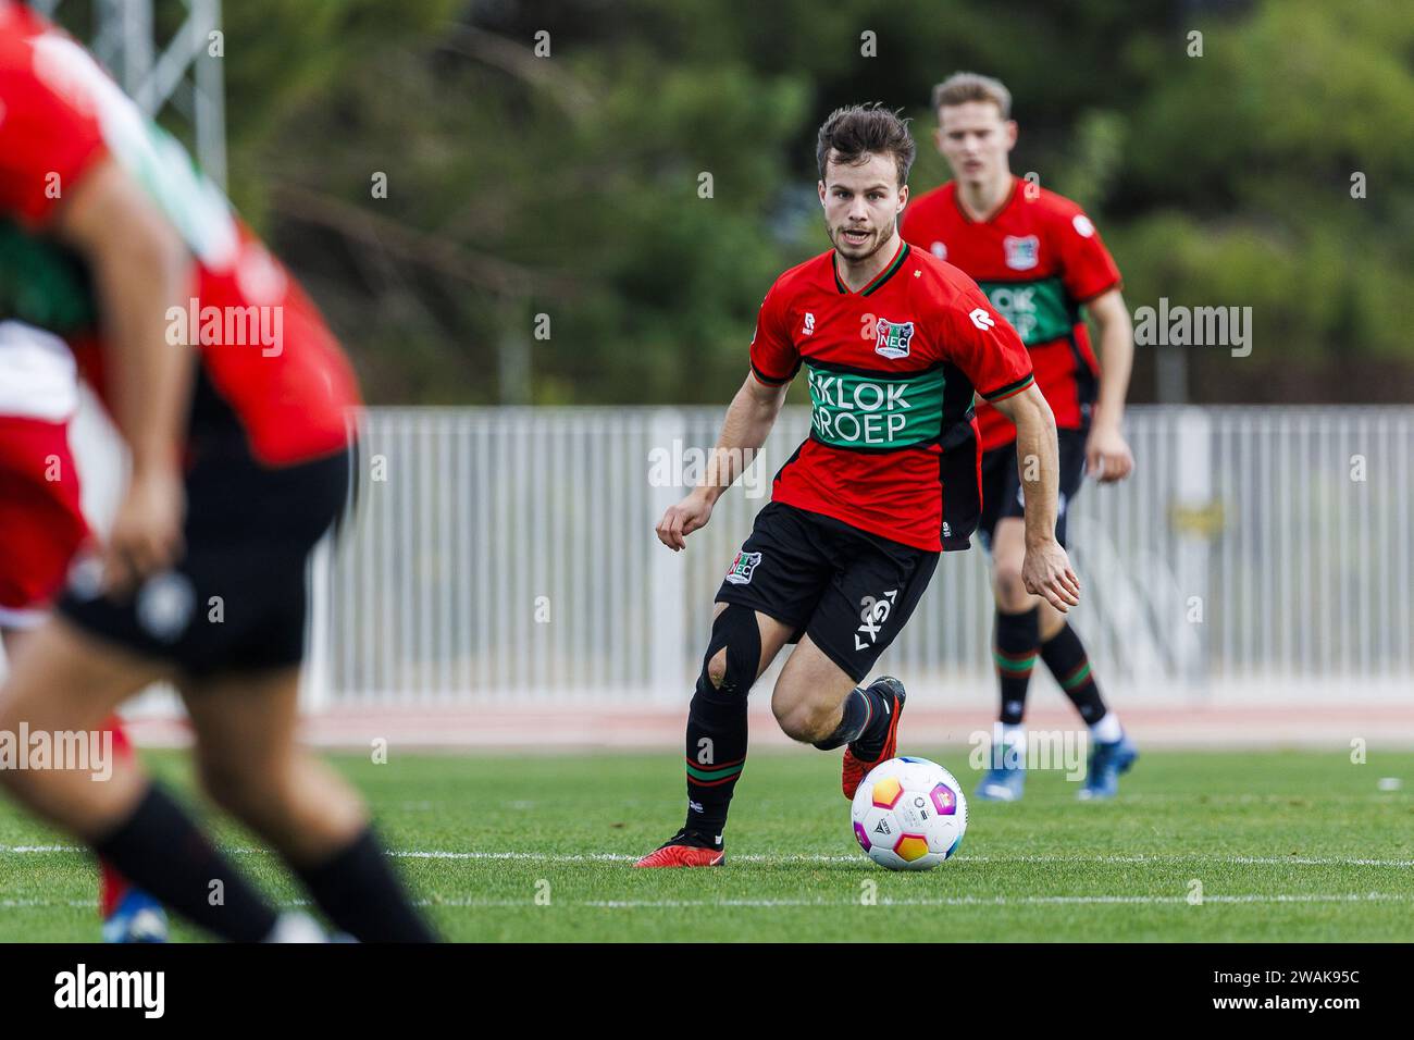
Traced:
<path fill-rule="evenodd" d="M 209 932 L 259 942 L 276 911 L 156 784 L 93 850 L 137 887 Z M 219 884 L 218 884 L 219 882 Z"/>

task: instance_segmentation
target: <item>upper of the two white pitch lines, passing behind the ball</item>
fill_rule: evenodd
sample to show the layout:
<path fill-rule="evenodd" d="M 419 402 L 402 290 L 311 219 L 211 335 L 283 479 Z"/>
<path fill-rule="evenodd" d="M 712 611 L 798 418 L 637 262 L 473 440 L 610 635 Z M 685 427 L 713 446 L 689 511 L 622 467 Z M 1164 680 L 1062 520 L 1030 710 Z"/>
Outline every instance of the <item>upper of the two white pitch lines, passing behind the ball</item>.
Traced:
<path fill-rule="evenodd" d="M 0 855 L 4 853 L 51 853 L 51 852 L 86 852 L 82 845 L 0 845 Z M 232 848 L 225 852 L 238 856 L 269 856 L 270 849 Z M 525 860 L 537 863 L 632 863 L 638 856 L 618 852 L 489 852 L 489 850 L 451 850 L 451 849 L 389 849 L 389 856 L 400 859 L 464 859 L 464 860 Z M 864 863 L 860 853 L 831 855 L 831 853 L 745 853 L 728 855 L 728 863 Z M 954 857 L 956 863 L 1035 863 L 1048 866 L 1063 866 L 1066 863 L 1225 863 L 1230 866 L 1373 866 L 1373 867 L 1414 867 L 1414 859 L 1365 859 L 1346 856 L 1223 856 L 1219 853 L 1135 853 L 1131 856 L 1097 855 L 1097 856 L 970 856 Z"/>

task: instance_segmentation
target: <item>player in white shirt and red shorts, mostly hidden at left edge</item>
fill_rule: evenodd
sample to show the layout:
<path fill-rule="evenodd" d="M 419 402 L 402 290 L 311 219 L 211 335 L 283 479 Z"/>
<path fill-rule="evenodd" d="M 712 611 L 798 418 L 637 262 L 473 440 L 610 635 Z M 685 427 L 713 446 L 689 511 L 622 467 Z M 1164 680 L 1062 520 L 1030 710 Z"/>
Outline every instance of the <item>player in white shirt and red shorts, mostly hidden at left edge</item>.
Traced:
<path fill-rule="evenodd" d="M 76 406 L 78 376 L 64 341 L 0 321 L 0 642 L 7 661 L 48 617 L 89 536 L 69 451 Z M 116 716 L 103 734 L 112 754 L 132 754 Z M 98 904 L 106 942 L 165 941 L 161 906 L 102 860 Z"/>

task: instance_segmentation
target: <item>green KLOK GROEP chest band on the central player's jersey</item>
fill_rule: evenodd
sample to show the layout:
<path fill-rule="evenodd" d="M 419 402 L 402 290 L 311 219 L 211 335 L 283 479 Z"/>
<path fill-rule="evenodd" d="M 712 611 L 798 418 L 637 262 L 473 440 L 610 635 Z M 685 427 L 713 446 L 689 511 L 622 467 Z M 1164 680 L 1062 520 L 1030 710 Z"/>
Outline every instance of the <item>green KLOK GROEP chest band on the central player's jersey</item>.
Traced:
<path fill-rule="evenodd" d="M 843 449 L 898 449 L 935 440 L 943 427 L 943 369 L 861 375 L 814 368 L 810 436 Z"/>

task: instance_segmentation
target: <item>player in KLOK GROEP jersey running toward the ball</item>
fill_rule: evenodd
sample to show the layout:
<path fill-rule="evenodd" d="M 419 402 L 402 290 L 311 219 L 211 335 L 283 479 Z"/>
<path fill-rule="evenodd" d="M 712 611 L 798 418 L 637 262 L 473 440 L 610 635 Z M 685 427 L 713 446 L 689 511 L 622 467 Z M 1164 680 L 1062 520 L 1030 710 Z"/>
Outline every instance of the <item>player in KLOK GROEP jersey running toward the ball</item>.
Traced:
<path fill-rule="evenodd" d="M 799 642 L 771 707 L 792 739 L 846 747 L 841 787 L 894 757 L 904 683 L 864 683 L 908 621 L 946 549 L 964 549 L 981 505 L 974 392 L 1017 424 L 1039 460 L 1025 483 L 1022 580 L 1060 611 L 1079 584 L 1055 541 L 1055 423 L 1021 340 L 966 275 L 898 235 L 913 141 L 877 106 L 834 112 L 816 147 L 833 248 L 771 287 L 751 372 L 703 481 L 658 538 L 673 550 L 766 440 L 803 366 L 810 437 L 772 487 L 717 593 L 711 638 L 687 716 L 687 819 L 642 867 L 715 866 L 747 757 L 747 693 L 786 642 Z"/>

